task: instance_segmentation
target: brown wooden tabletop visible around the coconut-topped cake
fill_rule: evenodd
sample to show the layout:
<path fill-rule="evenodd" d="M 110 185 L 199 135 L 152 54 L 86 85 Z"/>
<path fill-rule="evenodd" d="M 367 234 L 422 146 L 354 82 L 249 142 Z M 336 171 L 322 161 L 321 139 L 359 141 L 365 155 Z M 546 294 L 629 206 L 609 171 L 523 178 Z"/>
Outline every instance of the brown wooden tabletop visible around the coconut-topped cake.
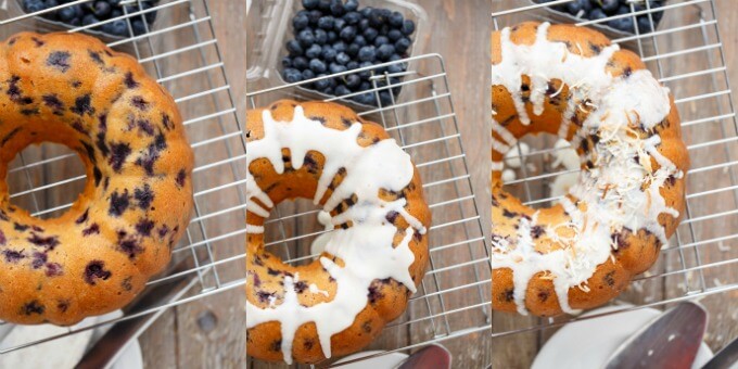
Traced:
<path fill-rule="evenodd" d="M 682 1 L 670 1 L 678 3 Z M 521 0 L 492 0 L 494 12 L 530 4 Z M 665 86 L 677 99 L 677 107 L 683 120 L 683 135 L 690 147 L 692 173 L 688 178 L 687 216 L 694 220 L 684 221 L 677 234 L 665 247 L 659 262 L 649 271 L 636 278 L 628 291 L 620 296 L 615 304 L 635 305 L 657 304 L 662 309 L 671 305 L 658 304 L 662 301 L 683 297 L 687 294 L 701 294 L 703 291 L 716 291 L 723 285 L 738 283 L 738 245 L 733 238 L 738 229 L 738 219 L 733 212 L 738 207 L 735 193 L 730 190 L 736 184 L 733 179 L 735 170 L 731 163 L 736 160 L 735 122 L 730 115 L 728 96 L 707 93 L 727 91 L 728 82 L 738 82 L 738 68 L 734 67 L 738 53 L 738 38 L 731 26 L 737 21 L 738 9 L 733 1 L 715 1 L 717 24 L 722 39 L 718 40 L 710 3 L 703 7 L 702 17 L 705 27 L 662 35 L 657 38 L 644 38 L 642 42 L 623 44 L 642 56 L 650 58 L 647 63 L 658 78 L 667 78 Z M 700 9 L 697 7 L 675 8 L 665 12 L 659 29 L 696 25 L 700 22 Z M 500 16 L 498 26 L 505 27 L 522 21 L 536 20 L 535 15 L 544 13 L 525 13 L 513 16 Z M 494 28 L 493 28 L 494 29 Z M 727 79 L 722 69 L 715 73 L 695 77 L 678 78 L 700 71 L 720 68 L 720 49 L 714 46 L 722 41 L 727 64 Z M 684 55 L 671 55 L 684 50 L 713 46 L 708 50 L 695 51 Z M 662 55 L 662 56 L 656 56 Z M 665 56 L 664 56 L 665 55 Z M 551 138 L 529 140 L 532 147 L 550 148 Z M 546 170 L 545 163 L 535 163 L 537 170 Z M 712 169 L 712 166 L 716 166 Z M 695 171 L 696 170 L 696 171 Z M 538 173 L 534 173 L 538 174 Z M 530 182 L 532 199 L 540 199 L 548 193 L 545 181 Z M 727 189 L 727 190 L 726 190 Z M 525 198 L 522 186 L 511 186 L 511 191 Z M 718 216 L 713 216 L 717 214 Z M 494 281 L 493 281 L 494 282 Z M 709 327 L 705 342 L 713 351 L 720 349 L 738 335 L 738 291 L 710 294 L 698 298 L 709 311 Z M 494 314 L 493 319 L 493 365 L 496 368 L 526 368 L 532 364 L 536 353 L 558 330 L 551 323 L 565 322 L 567 318 L 538 319 L 510 314 Z M 531 329 L 538 328 L 538 329 Z M 572 343 L 576 344 L 576 343 Z"/>

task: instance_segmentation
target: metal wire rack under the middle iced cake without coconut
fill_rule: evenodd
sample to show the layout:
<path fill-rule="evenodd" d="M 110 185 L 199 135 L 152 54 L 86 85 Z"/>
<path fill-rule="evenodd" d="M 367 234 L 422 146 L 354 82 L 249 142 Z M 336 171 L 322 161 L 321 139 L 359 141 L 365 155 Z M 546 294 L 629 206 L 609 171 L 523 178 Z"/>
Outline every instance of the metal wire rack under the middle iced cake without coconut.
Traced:
<path fill-rule="evenodd" d="M 409 65 L 399 82 L 393 82 L 391 77 L 394 75 L 376 73 L 392 64 L 385 63 L 246 94 L 250 109 L 285 98 L 347 104 L 360 116 L 382 124 L 411 155 L 420 171 L 425 199 L 433 214 L 433 225 L 429 230 L 430 265 L 406 313 L 389 323 L 376 344 L 368 347 L 381 351 L 381 354 L 372 356 L 409 353 L 429 343 L 448 343 L 467 334 L 487 332 L 491 317 L 489 254 L 443 59 L 437 54 L 427 54 L 395 63 Z M 380 91 L 402 88 L 398 99 L 393 99 L 391 105 L 369 107 L 351 102 L 351 98 L 360 92 L 326 99 L 297 89 L 319 79 L 341 78 L 360 72 L 371 73 L 371 92 L 378 98 Z M 325 232 L 317 221 L 317 213 L 318 209 L 308 201 L 279 204 L 265 225 L 267 250 L 293 265 L 310 263 L 318 256 L 310 252 L 310 242 Z M 473 344 L 479 345 L 479 349 L 486 349 L 479 340 Z M 454 354 L 454 348 L 449 348 Z M 458 347 L 459 352 L 461 349 L 468 352 L 469 344 Z M 249 367 L 282 366 L 250 358 Z"/>

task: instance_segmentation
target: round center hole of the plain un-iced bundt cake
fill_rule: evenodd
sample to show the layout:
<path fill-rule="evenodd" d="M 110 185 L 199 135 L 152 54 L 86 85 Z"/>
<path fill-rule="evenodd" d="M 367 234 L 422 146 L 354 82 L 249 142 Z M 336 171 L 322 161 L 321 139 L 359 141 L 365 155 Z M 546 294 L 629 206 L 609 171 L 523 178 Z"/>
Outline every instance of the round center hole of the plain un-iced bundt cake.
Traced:
<path fill-rule="evenodd" d="M 85 164 L 69 148 L 51 142 L 29 145 L 8 167 L 10 202 L 34 217 L 62 216 L 85 189 Z"/>

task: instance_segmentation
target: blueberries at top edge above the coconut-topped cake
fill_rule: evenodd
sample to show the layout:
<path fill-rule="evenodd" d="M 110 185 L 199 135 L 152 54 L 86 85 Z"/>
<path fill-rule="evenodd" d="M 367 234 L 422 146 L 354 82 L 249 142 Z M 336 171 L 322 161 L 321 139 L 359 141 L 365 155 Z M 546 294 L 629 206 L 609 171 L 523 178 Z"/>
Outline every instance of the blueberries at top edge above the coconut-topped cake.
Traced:
<path fill-rule="evenodd" d="M 554 0 L 538 0 L 538 2 L 551 1 Z M 648 1 L 650 9 L 653 10 L 663 7 L 664 2 L 664 0 L 574 0 L 565 4 L 556 5 L 554 9 L 560 12 L 569 13 L 581 20 L 596 21 L 613 15 L 629 14 L 632 13 L 631 5 L 633 5 L 633 11 L 636 12 L 647 10 L 649 8 L 647 8 L 646 1 Z M 633 16 L 626 16 L 608 21 L 605 24 L 611 28 L 622 30 L 624 33 L 635 34 L 635 26 L 637 22 L 638 33 L 648 34 L 656 30 L 656 26 L 661 21 L 663 14 L 663 11 L 652 11 L 651 18 L 653 22 L 651 22 L 651 18 L 649 18 L 648 14 L 642 14 L 638 15 L 636 21 L 633 20 Z"/>

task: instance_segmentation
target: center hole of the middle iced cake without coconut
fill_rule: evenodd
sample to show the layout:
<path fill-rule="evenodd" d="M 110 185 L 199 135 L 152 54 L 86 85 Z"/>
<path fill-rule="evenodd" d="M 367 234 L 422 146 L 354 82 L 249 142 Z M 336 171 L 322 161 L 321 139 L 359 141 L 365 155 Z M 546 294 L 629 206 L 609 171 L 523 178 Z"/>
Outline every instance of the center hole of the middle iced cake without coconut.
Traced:
<path fill-rule="evenodd" d="M 266 250 L 293 266 L 313 263 L 319 255 L 316 240 L 325 229 L 318 221 L 320 209 L 307 199 L 281 202 L 265 224 Z"/>

